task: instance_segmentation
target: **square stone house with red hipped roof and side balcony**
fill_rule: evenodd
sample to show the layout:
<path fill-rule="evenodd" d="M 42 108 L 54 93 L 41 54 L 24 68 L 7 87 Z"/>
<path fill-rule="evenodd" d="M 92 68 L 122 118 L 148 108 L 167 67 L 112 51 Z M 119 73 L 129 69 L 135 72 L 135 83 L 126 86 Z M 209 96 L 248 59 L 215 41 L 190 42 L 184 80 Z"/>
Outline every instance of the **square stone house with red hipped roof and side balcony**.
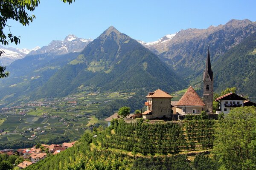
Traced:
<path fill-rule="evenodd" d="M 172 118 L 172 96 L 160 89 L 149 92 L 146 96 L 145 106 L 147 111 L 142 113 L 143 119 Z"/>

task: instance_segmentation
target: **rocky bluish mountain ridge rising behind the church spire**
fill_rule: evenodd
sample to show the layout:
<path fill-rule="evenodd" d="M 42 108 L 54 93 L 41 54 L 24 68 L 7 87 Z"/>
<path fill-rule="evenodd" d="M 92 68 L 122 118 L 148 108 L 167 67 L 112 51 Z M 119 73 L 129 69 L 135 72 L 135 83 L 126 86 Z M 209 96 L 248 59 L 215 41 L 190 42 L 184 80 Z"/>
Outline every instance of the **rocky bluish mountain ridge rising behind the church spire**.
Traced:
<path fill-rule="evenodd" d="M 207 29 L 181 30 L 165 43 L 145 45 L 145 47 L 172 65 L 179 76 L 194 81 L 203 73 L 208 46 L 211 61 L 215 63 L 219 57 L 254 32 L 256 32 L 256 22 L 230 20 L 225 25 L 210 26 Z"/>

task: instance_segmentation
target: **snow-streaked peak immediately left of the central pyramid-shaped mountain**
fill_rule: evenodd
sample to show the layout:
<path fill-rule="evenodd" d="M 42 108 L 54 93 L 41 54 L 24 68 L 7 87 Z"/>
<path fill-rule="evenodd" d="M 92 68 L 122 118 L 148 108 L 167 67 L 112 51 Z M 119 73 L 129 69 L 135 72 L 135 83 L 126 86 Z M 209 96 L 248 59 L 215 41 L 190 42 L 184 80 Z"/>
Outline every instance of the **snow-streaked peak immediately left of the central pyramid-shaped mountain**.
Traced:
<path fill-rule="evenodd" d="M 86 45 L 93 40 L 78 38 L 73 34 L 69 34 L 63 41 L 53 40 L 49 45 L 44 46 L 36 51 L 31 51 L 28 55 L 47 54 L 61 55 L 71 52 L 81 52 Z"/>

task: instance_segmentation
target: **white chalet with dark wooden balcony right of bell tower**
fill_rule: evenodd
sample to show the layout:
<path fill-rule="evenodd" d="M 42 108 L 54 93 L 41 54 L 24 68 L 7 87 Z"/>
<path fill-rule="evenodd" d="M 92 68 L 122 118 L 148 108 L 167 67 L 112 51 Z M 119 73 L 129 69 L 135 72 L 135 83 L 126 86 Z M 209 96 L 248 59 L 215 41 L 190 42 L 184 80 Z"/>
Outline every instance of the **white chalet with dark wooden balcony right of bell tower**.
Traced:
<path fill-rule="evenodd" d="M 244 99 L 234 93 L 229 93 L 218 97 L 215 101 L 218 102 L 218 109 L 216 110 L 216 113 L 220 114 L 222 112 L 227 114 L 233 108 L 244 106 L 244 102 L 247 101 L 247 99 Z"/>

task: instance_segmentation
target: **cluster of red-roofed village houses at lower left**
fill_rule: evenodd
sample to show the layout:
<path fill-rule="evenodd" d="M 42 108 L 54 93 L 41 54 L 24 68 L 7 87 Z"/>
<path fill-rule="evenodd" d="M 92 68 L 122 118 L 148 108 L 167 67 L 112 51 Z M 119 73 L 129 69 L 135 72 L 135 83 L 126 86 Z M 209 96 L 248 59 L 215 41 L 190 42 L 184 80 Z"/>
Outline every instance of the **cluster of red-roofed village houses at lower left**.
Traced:
<path fill-rule="evenodd" d="M 58 154 L 63 150 L 66 150 L 68 147 L 72 147 L 75 144 L 75 142 L 64 142 L 63 144 L 41 144 L 40 148 L 32 147 L 27 149 L 4 149 L 0 150 L 0 154 L 7 154 L 7 155 L 18 155 L 23 157 L 24 159 L 29 159 L 29 161 L 23 161 L 20 164 L 17 165 L 20 169 L 23 169 L 31 164 L 34 164 L 42 159 L 45 159 L 47 157 L 46 150 L 48 150 L 49 153 L 52 155 Z"/>

